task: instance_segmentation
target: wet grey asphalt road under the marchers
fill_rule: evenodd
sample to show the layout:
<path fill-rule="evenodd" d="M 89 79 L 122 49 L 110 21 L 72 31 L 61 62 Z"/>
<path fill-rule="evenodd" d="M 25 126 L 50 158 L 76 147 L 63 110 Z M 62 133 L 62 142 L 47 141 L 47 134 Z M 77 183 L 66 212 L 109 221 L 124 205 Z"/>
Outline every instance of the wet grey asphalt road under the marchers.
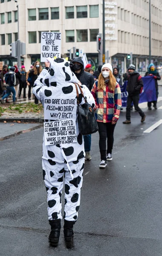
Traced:
<path fill-rule="evenodd" d="M 0 141 L 0 256 L 162 256 L 162 125 L 144 133 L 162 109 L 144 111 L 145 123 L 132 111 L 130 125 L 121 113 L 105 169 L 93 134 L 71 250 L 63 230 L 58 248 L 48 244 L 43 128 Z"/>

